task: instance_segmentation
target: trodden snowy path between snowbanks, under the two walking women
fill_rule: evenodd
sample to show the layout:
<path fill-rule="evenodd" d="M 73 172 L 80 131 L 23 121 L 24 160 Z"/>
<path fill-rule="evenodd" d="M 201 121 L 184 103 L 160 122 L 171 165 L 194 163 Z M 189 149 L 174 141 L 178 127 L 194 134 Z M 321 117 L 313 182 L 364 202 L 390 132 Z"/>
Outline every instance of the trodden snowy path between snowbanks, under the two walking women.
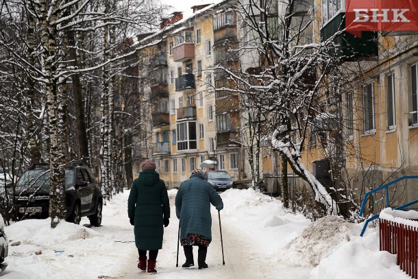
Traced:
<path fill-rule="evenodd" d="M 271 260 L 257 247 L 251 245 L 251 239 L 243 239 L 240 237 L 240 228 L 228 226 L 228 217 L 222 222 L 223 234 L 223 250 L 225 255 L 225 265 L 222 264 L 221 238 L 219 232 L 219 218 L 217 210 L 212 210 L 212 243 L 208 247 L 208 256 L 206 263 L 208 269 L 197 269 L 197 266 L 190 269 L 181 267 L 184 263 L 184 254 L 182 247 L 179 253 L 179 267 L 175 267 L 177 256 L 177 230 L 178 220 L 175 217 L 175 206 L 173 198 L 171 202 L 171 219 L 170 225 L 164 231 L 164 243 L 157 258 L 157 271 L 153 275 L 156 278 L 281 278 L 281 279 L 307 279 L 309 278 L 310 269 L 290 268 L 283 265 L 272 265 Z M 221 212 L 221 218 L 222 212 Z M 256 237 L 256 236 L 254 236 Z M 147 277 L 144 271 L 139 271 L 136 267 L 137 251 L 134 245 L 130 245 L 132 253 L 132 262 L 126 263 L 121 267 L 120 276 L 112 278 L 142 278 Z M 131 249 L 132 248 L 132 249 Z M 194 247 L 195 263 L 197 263 L 197 247 Z"/>

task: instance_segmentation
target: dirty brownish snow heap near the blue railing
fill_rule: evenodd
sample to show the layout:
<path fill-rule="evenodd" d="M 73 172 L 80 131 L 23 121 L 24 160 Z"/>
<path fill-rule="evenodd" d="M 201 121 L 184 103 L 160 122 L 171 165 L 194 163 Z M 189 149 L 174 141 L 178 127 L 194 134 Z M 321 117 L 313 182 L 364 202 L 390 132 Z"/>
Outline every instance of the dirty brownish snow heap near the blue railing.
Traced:
<path fill-rule="evenodd" d="M 352 224 L 336 216 L 318 219 L 282 249 L 280 261 L 293 266 L 315 267 L 338 245 L 350 241 L 351 227 Z"/>

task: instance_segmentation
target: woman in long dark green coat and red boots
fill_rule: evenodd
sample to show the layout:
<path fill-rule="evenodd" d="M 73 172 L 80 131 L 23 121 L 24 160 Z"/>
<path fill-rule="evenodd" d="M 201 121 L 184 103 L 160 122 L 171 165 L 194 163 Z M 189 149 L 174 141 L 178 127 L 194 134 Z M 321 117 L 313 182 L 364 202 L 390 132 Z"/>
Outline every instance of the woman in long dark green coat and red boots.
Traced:
<path fill-rule="evenodd" d="M 138 268 L 156 273 L 158 250 L 162 249 L 164 227 L 169 226 L 170 203 L 167 188 L 156 172 L 156 163 L 145 160 L 127 200 L 127 215 L 134 226 Z M 149 260 L 147 260 L 149 251 Z"/>

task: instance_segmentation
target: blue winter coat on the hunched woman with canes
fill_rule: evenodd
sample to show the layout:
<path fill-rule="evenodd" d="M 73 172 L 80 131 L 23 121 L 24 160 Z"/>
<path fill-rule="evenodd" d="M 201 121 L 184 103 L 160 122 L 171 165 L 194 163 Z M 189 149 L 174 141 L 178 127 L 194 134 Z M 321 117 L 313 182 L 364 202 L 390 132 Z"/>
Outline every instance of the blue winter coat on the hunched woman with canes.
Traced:
<path fill-rule="evenodd" d="M 221 196 L 204 177 L 195 173 L 180 184 L 175 196 L 175 215 L 180 219 L 180 239 L 187 234 L 200 234 L 212 240 L 210 204 L 217 210 L 223 208 Z"/>

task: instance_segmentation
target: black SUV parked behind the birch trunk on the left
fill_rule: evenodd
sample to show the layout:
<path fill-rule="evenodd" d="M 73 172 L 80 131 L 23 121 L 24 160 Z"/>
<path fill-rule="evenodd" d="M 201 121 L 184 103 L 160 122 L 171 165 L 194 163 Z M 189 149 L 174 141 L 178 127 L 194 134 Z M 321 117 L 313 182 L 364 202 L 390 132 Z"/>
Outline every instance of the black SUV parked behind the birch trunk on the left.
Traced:
<path fill-rule="evenodd" d="M 103 196 L 92 172 L 80 162 L 65 168 L 66 221 L 79 223 L 83 216 L 100 226 Z M 16 182 L 16 209 L 19 219 L 48 217 L 49 165 L 32 165 Z"/>

